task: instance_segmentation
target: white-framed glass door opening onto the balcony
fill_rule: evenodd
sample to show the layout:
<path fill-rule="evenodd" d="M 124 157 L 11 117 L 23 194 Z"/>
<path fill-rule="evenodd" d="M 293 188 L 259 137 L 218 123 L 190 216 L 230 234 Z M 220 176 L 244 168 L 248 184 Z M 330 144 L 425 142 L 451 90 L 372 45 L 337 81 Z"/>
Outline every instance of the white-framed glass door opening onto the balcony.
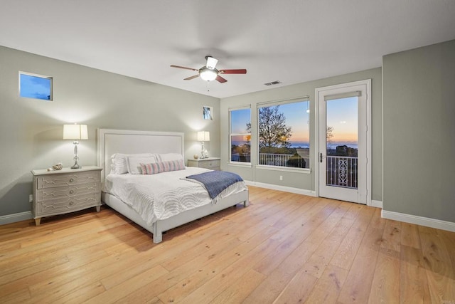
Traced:
<path fill-rule="evenodd" d="M 319 92 L 319 196 L 366 204 L 366 92 Z"/>

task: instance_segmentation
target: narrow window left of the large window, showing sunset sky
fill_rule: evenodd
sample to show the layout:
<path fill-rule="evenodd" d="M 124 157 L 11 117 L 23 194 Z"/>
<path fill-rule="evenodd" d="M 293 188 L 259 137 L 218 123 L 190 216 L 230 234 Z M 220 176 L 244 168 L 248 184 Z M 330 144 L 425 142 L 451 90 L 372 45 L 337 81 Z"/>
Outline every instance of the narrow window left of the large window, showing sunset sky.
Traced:
<path fill-rule="evenodd" d="M 230 110 L 230 161 L 251 162 L 251 109 Z"/>

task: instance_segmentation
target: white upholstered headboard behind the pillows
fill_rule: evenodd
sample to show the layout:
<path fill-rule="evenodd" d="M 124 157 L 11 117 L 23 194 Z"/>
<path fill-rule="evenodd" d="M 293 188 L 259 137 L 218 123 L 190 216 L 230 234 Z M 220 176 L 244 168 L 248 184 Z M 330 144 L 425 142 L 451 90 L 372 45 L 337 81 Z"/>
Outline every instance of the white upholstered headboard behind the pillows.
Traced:
<path fill-rule="evenodd" d="M 103 168 L 102 182 L 110 172 L 112 154 L 178 153 L 184 157 L 184 140 L 181 132 L 98 129 L 98 166 Z"/>

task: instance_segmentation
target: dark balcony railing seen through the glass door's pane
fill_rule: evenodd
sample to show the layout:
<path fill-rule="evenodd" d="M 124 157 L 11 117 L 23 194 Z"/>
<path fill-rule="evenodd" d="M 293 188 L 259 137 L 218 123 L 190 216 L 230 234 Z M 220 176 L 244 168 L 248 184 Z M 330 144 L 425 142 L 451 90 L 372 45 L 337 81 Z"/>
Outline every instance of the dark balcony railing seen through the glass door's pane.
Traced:
<path fill-rule="evenodd" d="M 357 157 L 327 156 L 327 185 L 357 189 Z"/>

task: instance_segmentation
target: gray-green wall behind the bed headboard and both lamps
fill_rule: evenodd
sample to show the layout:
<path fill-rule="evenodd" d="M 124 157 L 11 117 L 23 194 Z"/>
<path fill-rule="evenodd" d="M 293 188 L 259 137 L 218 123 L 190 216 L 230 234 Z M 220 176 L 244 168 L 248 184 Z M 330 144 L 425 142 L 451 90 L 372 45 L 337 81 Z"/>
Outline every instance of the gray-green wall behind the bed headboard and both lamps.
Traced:
<path fill-rule="evenodd" d="M 54 100 L 19 98 L 19 70 L 53 77 Z M 214 120 L 203 120 L 203 105 L 213 107 Z M 218 156 L 219 112 L 218 98 L 0 46 L 0 216 L 31 210 L 31 169 L 73 164 L 64 123 L 89 127 L 89 140 L 80 141 L 84 166 L 97 164 L 98 127 L 184 132 L 187 158 L 200 152 L 197 130 L 208 130 L 206 147 Z"/>

